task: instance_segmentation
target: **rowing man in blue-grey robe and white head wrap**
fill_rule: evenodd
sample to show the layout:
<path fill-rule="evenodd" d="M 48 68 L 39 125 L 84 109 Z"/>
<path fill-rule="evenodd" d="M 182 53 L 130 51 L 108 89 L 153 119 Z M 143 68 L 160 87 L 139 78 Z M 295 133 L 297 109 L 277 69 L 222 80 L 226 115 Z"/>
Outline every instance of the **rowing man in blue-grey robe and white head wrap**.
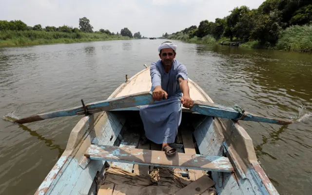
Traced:
<path fill-rule="evenodd" d="M 147 139 L 162 144 L 166 155 L 172 156 L 176 154 L 176 149 L 168 143 L 175 142 L 182 105 L 189 108 L 193 100 L 189 93 L 186 67 L 175 59 L 176 45 L 164 42 L 159 45 L 158 53 L 160 59 L 150 67 L 155 103 L 141 106 L 140 116 Z"/>

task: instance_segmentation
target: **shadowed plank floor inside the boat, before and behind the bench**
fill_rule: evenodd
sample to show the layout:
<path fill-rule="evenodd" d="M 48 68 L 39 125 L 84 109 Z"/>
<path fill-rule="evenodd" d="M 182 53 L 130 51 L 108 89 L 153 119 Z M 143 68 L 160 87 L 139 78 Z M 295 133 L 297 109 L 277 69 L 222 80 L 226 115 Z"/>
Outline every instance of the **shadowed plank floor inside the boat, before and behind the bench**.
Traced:
<path fill-rule="evenodd" d="M 138 111 L 113 111 L 118 115 L 123 115 L 126 121 L 117 135 L 114 146 L 120 148 L 137 148 L 142 151 L 160 151 L 161 144 L 156 144 L 149 140 L 144 140 L 144 127 Z M 191 155 L 200 154 L 194 137 L 193 122 L 200 121 L 204 116 L 195 115 L 189 112 L 182 114 L 182 122 L 178 129 L 176 141 L 170 146 L 176 148 L 178 153 Z M 127 150 L 125 150 L 128 152 Z M 162 152 L 164 153 L 164 152 Z M 143 160 L 144 154 L 142 155 Z M 149 156 L 150 158 L 159 158 Z M 147 157 L 147 158 L 149 158 Z M 168 158 L 170 160 L 170 157 Z M 150 159 L 149 159 L 150 160 Z M 107 162 L 104 164 L 102 177 L 97 177 L 89 194 L 93 195 L 174 195 L 179 190 L 195 181 L 199 177 L 207 176 L 203 187 L 199 191 L 195 188 L 195 193 L 203 195 L 216 195 L 213 184 L 212 172 L 204 170 L 192 170 L 187 168 L 165 167 L 155 165 L 132 164 L 125 162 Z M 99 179 L 100 178 L 100 179 Z M 207 182 L 210 181 L 210 182 Z M 206 183 L 207 182 L 207 183 Z M 98 186 L 95 188 L 95 186 Z M 98 191 L 97 191 L 98 190 Z M 185 190 L 185 189 L 184 189 Z M 182 190 L 180 194 L 184 194 Z M 203 192 L 201 192 L 203 191 Z M 179 193 L 178 193 L 179 194 Z"/>

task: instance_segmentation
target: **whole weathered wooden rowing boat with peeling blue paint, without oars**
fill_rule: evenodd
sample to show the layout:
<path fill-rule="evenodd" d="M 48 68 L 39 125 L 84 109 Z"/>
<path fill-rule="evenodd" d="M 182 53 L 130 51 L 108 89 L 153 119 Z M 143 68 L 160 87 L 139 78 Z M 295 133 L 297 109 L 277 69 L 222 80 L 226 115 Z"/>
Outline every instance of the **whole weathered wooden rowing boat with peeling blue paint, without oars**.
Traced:
<path fill-rule="evenodd" d="M 193 100 L 213 100 L 189 79 Z M 149 67 L 109 98 L 151 89 Z M 278 195 L 259 165 L 252 139 L 230 119 L 182 109 L 174 157 L 142 143 L 139 106 L 84 116 L 36 195 Z M 157 195 L 158 195 L 157 194 Z"/>

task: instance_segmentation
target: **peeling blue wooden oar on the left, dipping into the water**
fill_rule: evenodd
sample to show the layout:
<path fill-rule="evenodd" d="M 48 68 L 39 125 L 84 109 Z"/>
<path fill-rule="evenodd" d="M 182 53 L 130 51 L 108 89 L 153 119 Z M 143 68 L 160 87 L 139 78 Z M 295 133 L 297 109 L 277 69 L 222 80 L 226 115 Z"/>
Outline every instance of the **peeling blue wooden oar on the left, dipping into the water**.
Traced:
<path fill-rule="evenodd" d="M 43 114 L 37 114 L 21 119 L 17 119 L 14 122 L 19 124 L 31 123 L 35 121 L 42 121 L 45 119 L 63 117 L 63 116 L 74 116 L 74 115 L 83 115 L 83 114 L 94 114 L 96 112 L 108 111 L 112 109 L 124 108 L 124 107 L 133 107 L 133 106 L 142 106 L 154 103 L 152 98 L 152 92 L 142 92 L 135 93 L 132 95 L 122 96 L 118 98 L 108 99 L 105 101 L 94 102 L 87 105 L 84 105 L 83 101 L 82 106 L 73 107 L 64 110 L 58 110 L 54 112 L 47 112 Z"/>

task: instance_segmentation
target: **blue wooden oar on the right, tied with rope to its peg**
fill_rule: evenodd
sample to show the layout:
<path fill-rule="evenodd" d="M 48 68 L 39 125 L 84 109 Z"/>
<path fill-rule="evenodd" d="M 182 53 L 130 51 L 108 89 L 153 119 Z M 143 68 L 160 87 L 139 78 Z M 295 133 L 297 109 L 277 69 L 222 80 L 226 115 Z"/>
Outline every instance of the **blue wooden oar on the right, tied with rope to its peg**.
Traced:
<path fill-rule="evenodd" d="M 283 121 L 278 119 L 272 119 L 268 117 L 258 116 L 245 112 L 239 106 L 235 107 L 223 106 L 219 104 L 214 104 L 204 101 L 194 101 L 191 111 L 198 112 L 207 116 L 214 116 L 220 118 L 227 118 L 232 120 L 244 120 L 244 121 L 254 121 L 254 122 L 264 122 L 272 124 L 292 124 L 291 121 Z"/>

